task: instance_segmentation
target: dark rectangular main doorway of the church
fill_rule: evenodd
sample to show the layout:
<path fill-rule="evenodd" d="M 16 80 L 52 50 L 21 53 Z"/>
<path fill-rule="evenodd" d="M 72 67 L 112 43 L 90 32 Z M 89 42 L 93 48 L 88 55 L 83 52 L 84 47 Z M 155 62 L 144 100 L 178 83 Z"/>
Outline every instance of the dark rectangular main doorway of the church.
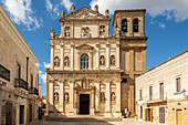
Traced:
<path fill-rule="evenodd" d="M 80 94 L 80 114 L 90 114 L 90 94 Z"/>

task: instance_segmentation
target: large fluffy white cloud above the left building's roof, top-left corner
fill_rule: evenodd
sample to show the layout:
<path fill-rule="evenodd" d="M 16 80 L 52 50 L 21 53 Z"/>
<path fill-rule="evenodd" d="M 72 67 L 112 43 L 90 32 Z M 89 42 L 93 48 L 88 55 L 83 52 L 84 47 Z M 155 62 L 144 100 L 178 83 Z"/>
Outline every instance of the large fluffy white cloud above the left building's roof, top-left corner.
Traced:
<path fill-rule="evenodd" d="M 29 31 L 39 29 L 40 22 L 33 15 L 31 0 L 2 0 L 10 18 L 17 24 L 24 24 Z"/>

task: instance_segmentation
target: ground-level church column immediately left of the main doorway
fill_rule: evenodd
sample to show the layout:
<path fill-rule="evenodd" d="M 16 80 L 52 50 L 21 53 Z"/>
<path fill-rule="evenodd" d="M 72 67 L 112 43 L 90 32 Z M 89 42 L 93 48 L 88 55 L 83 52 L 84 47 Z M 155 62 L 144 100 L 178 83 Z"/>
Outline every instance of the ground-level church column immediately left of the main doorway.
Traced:
<path fill-rule="evenodd" d="M 70 80 L 69 81 L 70 83 L 70 112 L 71 113 L 74 113 L 74 81 L 73 80 Z"/>

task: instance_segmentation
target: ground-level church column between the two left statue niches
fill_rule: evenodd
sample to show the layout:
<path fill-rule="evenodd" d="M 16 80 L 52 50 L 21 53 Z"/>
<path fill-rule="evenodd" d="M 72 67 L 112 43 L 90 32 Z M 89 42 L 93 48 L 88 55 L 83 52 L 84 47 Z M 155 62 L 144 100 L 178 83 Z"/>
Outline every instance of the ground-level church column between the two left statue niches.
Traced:
<path fill-rule="evenodd" d="M 60 112 L 64 112 L 64 80 L 60 80 Z"/>

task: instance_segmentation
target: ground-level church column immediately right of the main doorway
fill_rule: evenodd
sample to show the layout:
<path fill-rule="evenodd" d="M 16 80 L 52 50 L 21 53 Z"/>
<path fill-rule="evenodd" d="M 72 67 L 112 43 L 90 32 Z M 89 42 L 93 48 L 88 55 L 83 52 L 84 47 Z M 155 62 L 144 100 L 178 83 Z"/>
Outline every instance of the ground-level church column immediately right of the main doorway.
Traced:
<path fill-rule="evenodd" d="M 100 112 L 100 80 L 95 80 L 95 112 Z"/>

